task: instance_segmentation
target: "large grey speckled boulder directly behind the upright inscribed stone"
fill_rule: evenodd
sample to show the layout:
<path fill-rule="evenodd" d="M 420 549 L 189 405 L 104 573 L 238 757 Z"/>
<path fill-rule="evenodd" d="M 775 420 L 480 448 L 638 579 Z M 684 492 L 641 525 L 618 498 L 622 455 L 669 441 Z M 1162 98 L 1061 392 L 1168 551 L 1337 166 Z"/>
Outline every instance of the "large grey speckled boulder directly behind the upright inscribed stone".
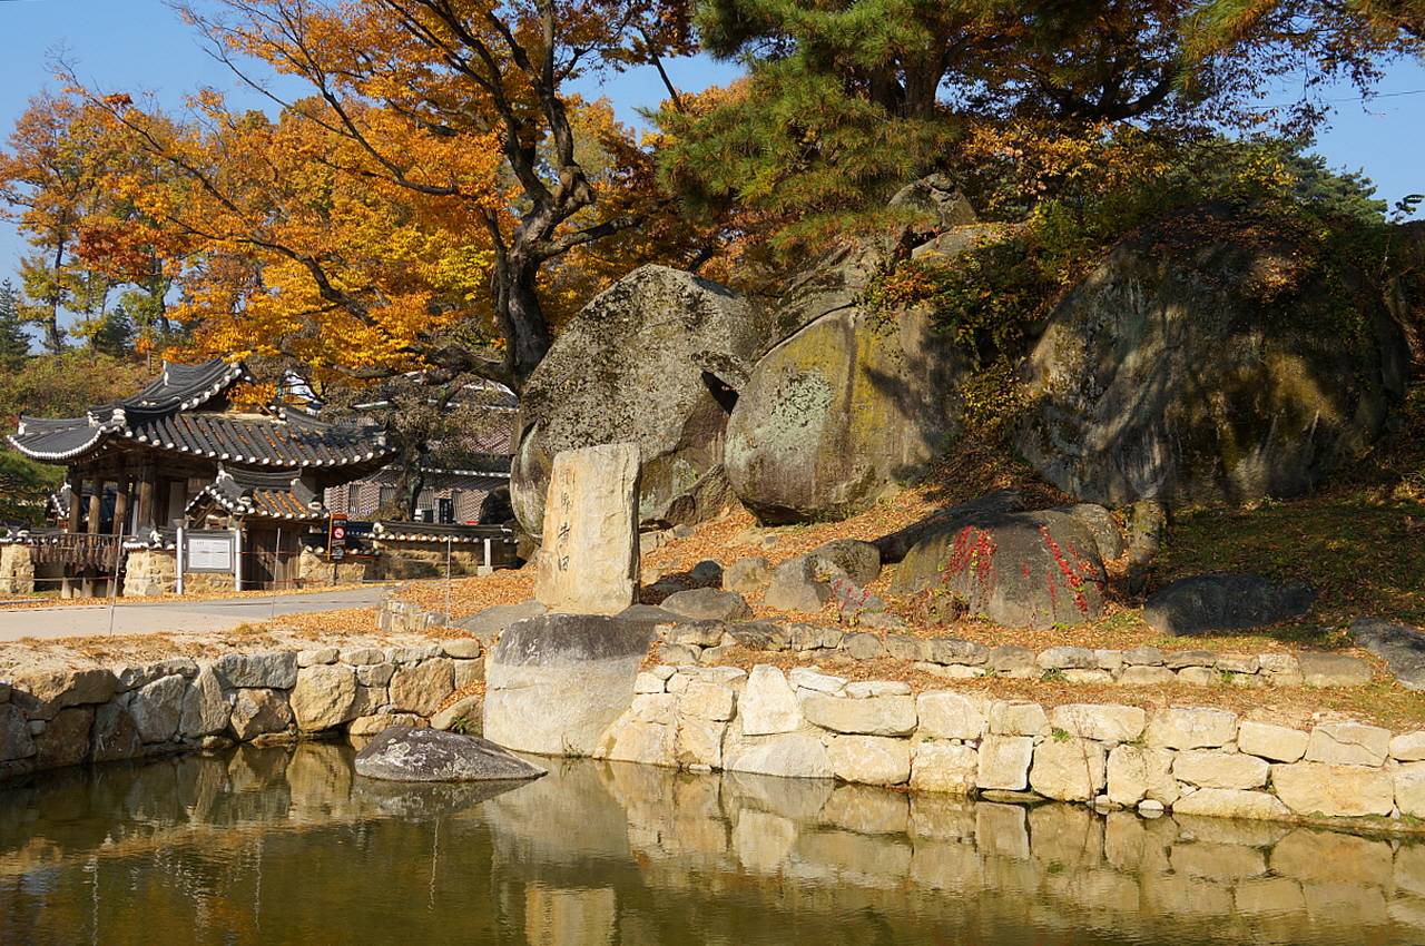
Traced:
<path fill-rule="evenodd" d="M 778 338 L 760 303 L 665 266 L 601 292 L 520 395 L 510 473 L 520 524 L 543 536 L 554 454 L 628 440 L 643 449 L 641 519 L 665 521 L 670 506 L 681 517 L 720 511 L 711 494 L 725 492 L 717 467 L 738 379 Z"/>

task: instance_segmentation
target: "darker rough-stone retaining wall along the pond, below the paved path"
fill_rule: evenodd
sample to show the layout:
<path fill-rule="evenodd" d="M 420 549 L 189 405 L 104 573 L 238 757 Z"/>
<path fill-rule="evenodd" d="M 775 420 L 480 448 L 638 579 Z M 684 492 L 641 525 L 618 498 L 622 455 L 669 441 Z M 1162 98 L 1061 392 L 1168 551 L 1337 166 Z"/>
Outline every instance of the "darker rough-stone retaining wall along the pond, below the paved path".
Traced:
<path fill-rule="evenodd" d="M 484 680 L 484 654 L 472 637 L 423 647 L 21 670 L 0 680 L 0 778 L 224 741 L 425 725 L 453 691 Z"/>

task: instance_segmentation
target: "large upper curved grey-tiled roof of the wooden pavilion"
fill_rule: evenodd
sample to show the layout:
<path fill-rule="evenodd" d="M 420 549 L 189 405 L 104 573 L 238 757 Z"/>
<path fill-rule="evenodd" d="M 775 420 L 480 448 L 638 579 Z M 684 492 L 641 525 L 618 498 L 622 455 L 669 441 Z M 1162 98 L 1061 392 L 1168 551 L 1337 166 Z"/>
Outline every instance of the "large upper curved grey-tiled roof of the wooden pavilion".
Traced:
<path fill-rule="evenodd" d="M 67 462 L 105 442 L 152 447 L 245 466 L 338 467 L 395 453 L 378 426 L 325 423 L 296 409 L 276 416 L 194 410 L 239 379 L 241 365 L 165 365 L 164 376 L 140 393 L 91 407 L 83 417 L 20 417 L 10 443 L 37 460 Z"/>

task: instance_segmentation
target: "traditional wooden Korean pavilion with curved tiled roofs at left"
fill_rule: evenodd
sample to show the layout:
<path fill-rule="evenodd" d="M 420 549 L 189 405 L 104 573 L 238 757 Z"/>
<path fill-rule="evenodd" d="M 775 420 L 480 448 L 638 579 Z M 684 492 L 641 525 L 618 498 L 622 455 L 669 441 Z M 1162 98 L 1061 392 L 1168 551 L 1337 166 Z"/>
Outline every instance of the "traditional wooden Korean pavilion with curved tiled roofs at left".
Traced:
<path fill-rule="evenodd" d="M 21 417 L 10 443 L 68 467 L 63 531 L 24 537 L 34 564 L 60 564 L 66 593 L 78 581 L 88 596 L 127 557 L 125 593 L 167 591 L 155 576 L 171 584 L 171 566 L 135 568 L 135 551 L 171 554 L 177 526 L 231 529 L 241 536 L 242 587 L 295 581 L 304 539 L 325 531 L 323 490 L 372 473 L 396 450 L 379 426 L 237 403 L 232 389 L 251 380 L 241 363 L 165 363 L 137 395 L 83 417 Z"/>

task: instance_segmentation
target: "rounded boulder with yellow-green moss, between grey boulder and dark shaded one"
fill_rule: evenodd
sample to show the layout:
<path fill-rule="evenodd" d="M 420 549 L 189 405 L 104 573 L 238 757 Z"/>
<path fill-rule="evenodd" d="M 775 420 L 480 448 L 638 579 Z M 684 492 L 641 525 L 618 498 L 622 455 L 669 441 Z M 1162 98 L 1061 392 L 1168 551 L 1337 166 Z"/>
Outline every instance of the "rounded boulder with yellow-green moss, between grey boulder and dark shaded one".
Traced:
<path fill-rule="evenodd" d="M 724 463 L 765 524 L 855 514 L 960 432 L 965 362 L 922 311 L 842 308 L 758 362 Z"/>

